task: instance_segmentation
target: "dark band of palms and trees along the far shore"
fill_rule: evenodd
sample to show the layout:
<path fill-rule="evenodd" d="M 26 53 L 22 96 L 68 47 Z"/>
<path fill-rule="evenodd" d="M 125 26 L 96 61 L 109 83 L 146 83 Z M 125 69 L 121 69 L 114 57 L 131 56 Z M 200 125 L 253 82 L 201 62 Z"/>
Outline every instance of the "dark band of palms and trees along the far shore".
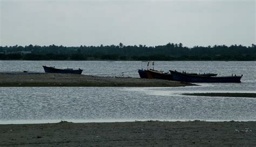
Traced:
<path fill-rule="evenodd" d="M 0 60 L 229 60 L 255 61 L 256 45 L 185 47 L 168 43 L 159 46 L 0 46 Z"/>

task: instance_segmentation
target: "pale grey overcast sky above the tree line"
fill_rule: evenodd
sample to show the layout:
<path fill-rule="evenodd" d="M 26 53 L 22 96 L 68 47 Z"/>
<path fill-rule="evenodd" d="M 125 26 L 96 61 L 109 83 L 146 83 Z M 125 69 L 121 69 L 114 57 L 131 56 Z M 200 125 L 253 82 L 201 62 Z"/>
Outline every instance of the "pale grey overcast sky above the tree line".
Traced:
<path fill-rule="evenodd" d="M 0 46 L 256 44 L 255 0 L 0 0 Z"/>

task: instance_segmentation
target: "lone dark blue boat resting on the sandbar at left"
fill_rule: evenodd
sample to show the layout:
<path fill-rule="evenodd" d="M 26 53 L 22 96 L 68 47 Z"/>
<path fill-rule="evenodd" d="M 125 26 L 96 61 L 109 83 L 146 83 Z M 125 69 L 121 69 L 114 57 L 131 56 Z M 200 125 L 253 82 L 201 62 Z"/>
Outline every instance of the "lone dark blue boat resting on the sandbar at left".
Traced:
<path fill-rule="evenodd" d="M 66 68 L 66 69 L 58 69 L 55 67 L 48 67 L 48 66 L 43 66 L 44 67 L 44 72 L 45 73 L 63 73 L 63 74 L 82 74 L 83 69 L 73 69 L 73 68 Z"/>

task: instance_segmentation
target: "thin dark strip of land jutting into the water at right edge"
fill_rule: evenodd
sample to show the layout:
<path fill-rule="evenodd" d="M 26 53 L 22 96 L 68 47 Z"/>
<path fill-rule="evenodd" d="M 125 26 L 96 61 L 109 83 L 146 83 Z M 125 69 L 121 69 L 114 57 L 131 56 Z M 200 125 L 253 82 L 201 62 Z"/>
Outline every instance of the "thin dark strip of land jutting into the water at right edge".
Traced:
<path fill-rule="evenodd" d="M 256 97 L 256 93 L 186 93 L 193 96 Z"/>

